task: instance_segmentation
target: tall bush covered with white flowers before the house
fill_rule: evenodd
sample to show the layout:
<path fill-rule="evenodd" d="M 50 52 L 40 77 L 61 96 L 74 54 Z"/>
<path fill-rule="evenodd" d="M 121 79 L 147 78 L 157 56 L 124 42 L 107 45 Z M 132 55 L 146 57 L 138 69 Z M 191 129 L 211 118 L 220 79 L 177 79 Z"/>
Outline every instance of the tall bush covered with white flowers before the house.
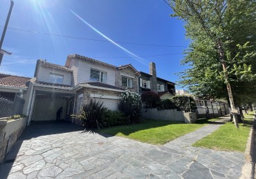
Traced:
<path fill-rule="evenodd" d="M 118 110 L 125 115 L 127 124 L 140 121 L 140 107 L 140 96 L 129 90 L 123 93 L 118 101 Z"/>

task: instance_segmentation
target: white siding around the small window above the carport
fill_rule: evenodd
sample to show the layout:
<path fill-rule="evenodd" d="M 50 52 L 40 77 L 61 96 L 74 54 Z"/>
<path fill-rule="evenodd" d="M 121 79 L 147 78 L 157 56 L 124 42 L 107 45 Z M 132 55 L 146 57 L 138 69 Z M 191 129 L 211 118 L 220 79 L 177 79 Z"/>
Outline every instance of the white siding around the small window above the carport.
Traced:
<path fill-rule="evenodd" d="M 71 85 L 72 72 L 67 72 L 64 70 L 58 70 L 50 67 L 44 67 L 39 65 L 37 73 L 37 81 L 49 82 L 50 73 L 63 75 L 63 84 Z"/>

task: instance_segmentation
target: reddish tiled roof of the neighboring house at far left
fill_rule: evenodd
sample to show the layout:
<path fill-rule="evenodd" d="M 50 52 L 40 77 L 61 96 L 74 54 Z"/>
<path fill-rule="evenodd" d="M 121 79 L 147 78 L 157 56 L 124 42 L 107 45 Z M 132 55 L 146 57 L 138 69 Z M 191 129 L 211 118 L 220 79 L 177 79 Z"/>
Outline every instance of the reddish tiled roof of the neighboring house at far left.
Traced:
<path fill-rule="evenodd" d="M 28 87 L 31 78 L 23 76 L 13 76 L 10 74 L 0 74 L 0 85 L 11 87 Z"/>

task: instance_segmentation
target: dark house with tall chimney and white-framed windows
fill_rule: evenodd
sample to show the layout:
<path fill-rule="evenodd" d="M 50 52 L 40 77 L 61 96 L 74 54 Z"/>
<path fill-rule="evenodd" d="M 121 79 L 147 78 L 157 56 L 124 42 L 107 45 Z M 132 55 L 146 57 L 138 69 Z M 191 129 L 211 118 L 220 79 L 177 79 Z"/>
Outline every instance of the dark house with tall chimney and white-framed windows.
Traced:
<path fill-rule="evenodd" d="M 138 94 L 143 92 L 156 92 L 161 99 L 175 95 L 175 83 L 156 76 L 156 64 L 149 63 L 149 74 L 140 72 L 140 87 Z"/>

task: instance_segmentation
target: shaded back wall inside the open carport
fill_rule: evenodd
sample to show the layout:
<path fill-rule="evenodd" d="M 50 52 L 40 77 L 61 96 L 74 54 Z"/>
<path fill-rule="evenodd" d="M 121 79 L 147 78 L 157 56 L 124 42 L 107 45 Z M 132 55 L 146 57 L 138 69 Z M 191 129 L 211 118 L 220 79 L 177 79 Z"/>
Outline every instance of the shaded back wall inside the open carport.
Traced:
<path fill-rule="evenodd" d="M 52 98 L 36 98 L 32 120 L 56 120 L 56 112 L 60 107 L 63 107 L 60 118 L 64 118 L 66 113 L 66 100 L 53 98 L 53 101 L 51 101 L 51 99 Z"/>

